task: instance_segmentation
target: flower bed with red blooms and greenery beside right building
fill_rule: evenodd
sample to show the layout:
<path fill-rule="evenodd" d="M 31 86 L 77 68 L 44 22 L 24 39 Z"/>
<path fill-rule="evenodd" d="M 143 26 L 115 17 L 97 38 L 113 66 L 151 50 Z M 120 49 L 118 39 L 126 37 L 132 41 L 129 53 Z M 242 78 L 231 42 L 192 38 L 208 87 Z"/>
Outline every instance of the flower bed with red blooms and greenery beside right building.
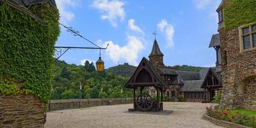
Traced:
<path fill-rule="evenodd" d="M 256 111 L 249 111 L 245 109 L 206 109 L 207 115 L 218 120 L 256 128 Z"/>

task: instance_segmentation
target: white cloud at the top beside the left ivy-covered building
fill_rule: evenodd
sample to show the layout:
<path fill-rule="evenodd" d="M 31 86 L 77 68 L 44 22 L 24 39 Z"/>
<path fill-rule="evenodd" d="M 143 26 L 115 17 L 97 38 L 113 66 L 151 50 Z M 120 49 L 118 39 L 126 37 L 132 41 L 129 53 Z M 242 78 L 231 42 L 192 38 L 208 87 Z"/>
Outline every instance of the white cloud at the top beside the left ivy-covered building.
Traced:
<path fill-rule="evenodd" d="M 74 8 L 77 6 L 79 0 L 56 0 L 57 7 L 60 11 L 60 21 L 63 24 L 68 24 L 72 19 L 74 19 L 75 14 L 70 12 L 67 8 Z"/>

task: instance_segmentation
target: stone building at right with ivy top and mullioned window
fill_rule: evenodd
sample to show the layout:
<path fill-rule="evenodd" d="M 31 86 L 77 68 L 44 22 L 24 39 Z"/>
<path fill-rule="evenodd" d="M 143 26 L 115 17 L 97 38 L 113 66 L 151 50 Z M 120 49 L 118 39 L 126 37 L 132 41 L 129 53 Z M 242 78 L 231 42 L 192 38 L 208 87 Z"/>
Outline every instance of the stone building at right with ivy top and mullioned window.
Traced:
<path fill-rule="evenodd" d="M 223 77 L 221 108 L 256 109 L 255 6 L 253 0 L 223 0 L 217 9 Z"/>

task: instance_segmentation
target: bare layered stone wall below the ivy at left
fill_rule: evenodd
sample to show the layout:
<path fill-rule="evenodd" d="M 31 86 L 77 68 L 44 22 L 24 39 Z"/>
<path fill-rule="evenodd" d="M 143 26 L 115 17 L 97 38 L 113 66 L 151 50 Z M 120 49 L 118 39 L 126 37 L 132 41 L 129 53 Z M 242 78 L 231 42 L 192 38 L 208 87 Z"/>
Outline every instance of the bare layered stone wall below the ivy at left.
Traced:
<path fill-rule="evenodd" d="M 0 93 L 0 127 L 44 127 L 44 104 L 33 95 Z"/>

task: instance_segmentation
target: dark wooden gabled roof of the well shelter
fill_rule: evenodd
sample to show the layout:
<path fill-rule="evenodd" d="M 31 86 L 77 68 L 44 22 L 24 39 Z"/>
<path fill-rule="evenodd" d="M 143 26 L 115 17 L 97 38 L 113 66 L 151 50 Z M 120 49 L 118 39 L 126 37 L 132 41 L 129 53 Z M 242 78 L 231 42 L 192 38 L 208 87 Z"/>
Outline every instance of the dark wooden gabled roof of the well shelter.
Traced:
<path fill-rule="evenodd" d="M 142 58 L 138 68 L 125 84 L 125 88 L 137 88 L 140 86 L 166 86 L 156 68 L 145 57 Z"/>

